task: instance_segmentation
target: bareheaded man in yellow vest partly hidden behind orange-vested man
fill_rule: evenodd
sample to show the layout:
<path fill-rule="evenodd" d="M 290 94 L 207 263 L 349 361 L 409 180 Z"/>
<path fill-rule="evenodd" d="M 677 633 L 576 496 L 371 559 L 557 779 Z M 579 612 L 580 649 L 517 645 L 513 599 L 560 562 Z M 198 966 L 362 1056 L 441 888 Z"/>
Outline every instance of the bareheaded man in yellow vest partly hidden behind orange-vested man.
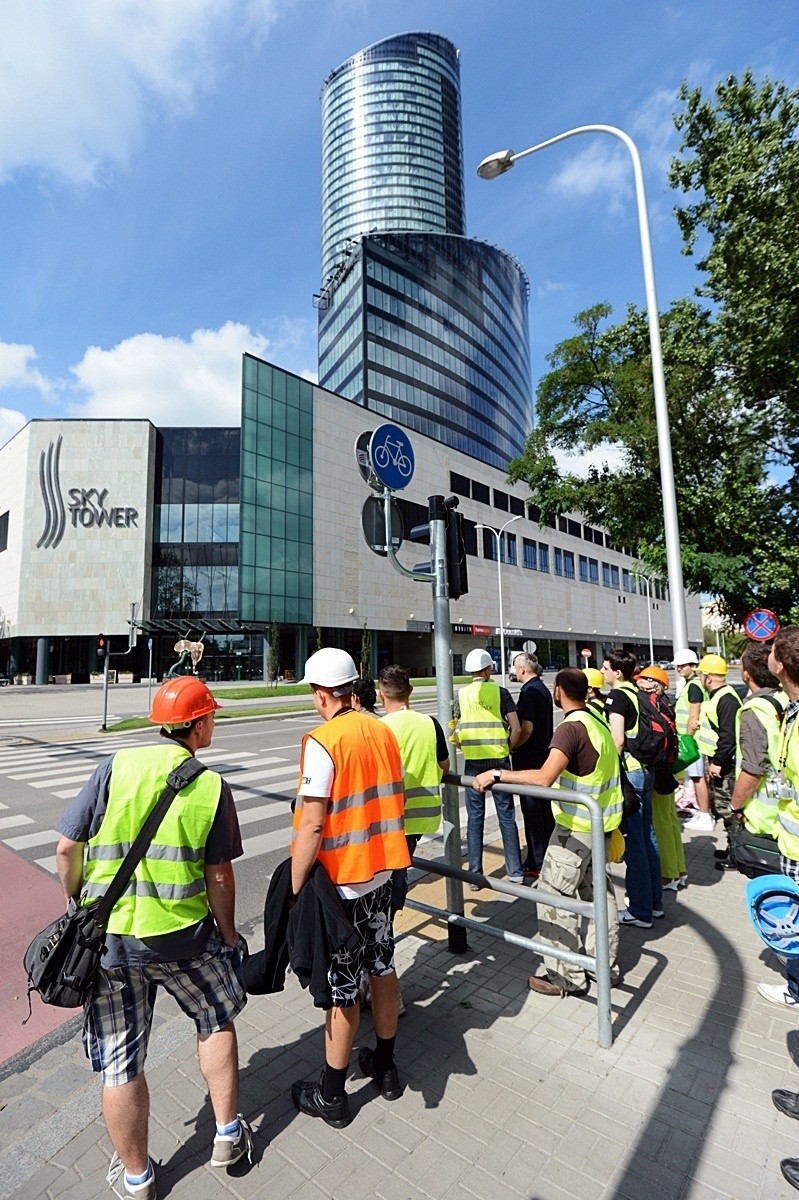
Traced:
<path fill-rule="evenodd" d="M 413 684 L 404 667 L 392 664 L 378 677 L 383 720 L 400 744 L 405 780 L 405 841 L 413 858 L 419 839 L 438 833 L 441 823 L 441 776 L 450 769 L 444 730 L 434 716 L 410 708 Z M 395 871 L 391 911 L 403 907 L 408 872 Z"/>

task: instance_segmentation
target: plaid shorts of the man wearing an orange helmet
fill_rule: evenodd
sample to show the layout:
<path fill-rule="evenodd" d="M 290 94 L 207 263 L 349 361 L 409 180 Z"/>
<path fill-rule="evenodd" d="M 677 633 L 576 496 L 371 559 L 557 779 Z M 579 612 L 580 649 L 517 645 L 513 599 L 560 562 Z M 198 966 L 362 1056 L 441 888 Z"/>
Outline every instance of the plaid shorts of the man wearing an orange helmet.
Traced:
<path fill-rule="evenodd" d="M 83 1045 L 103 1084 L 130 1084 L 144 1070 L 160 986 L 192 1018 L 200 1037 L 228 1026 L 247 1003 L 245 949 L 244 938 L 228 947 L 215 932 L 197 959 L 101 968 L 84 1012 Z"/>

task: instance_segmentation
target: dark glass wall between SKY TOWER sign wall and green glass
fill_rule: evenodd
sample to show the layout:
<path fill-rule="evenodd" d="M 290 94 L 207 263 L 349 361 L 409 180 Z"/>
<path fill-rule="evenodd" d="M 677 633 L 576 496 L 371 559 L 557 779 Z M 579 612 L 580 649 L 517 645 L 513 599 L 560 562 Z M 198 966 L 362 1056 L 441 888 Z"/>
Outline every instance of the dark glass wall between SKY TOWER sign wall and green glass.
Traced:
<path fill-rule="evenodd" d="M 152 617 L 235 620 L 240 431 L 160 430 L 156 456 Z"/>

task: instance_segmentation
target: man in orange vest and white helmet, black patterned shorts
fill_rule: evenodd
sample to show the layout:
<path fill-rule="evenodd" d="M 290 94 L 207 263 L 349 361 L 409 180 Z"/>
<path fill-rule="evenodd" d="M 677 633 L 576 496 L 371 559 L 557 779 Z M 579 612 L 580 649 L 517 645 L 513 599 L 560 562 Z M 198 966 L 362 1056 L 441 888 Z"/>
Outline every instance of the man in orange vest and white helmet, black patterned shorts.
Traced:
<path fill-rule="evenodd" d="M 355 664 L 328 647 L 305 665 L 304 683 L 323 719 L 302 739 L 300 786 L 292 833 L 292 890 L 296 896 L 319 862 L 359 935 L 354 950 L 334 954 L 325 1016 L 325 1067 L 319 1080 L 298 1080 L 292 1098 L 300 1112 L 336 1129 L 352 1117 L 344 1080 L 360 1020 L 362 972 L 372 985 L 377 1043 L 361 1050 L 364 1074 L 386 1100 L 402 1094 L 394 1044 L 400 989 L 394 968 L 391 872 L 410 865 L 405 842 L 402 760 L 388 725 L 353 708 Z"/>

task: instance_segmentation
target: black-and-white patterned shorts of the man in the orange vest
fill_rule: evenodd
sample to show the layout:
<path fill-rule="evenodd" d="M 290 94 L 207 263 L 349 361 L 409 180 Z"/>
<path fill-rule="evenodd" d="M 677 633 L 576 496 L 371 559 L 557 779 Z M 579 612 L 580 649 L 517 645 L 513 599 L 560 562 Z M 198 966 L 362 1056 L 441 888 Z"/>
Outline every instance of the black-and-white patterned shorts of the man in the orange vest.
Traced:
<path fill-rule="evenodd" d="M 394 929 L 391 928 L 391 880 L 355 900 L 342 900 L 358 934 L 354 950 L 342 950 L 330 959 L 328 982 L 334 1008 L 352 1008 L 359 1002 L 361 974 L 385 976 L 394 971 Z"/>

